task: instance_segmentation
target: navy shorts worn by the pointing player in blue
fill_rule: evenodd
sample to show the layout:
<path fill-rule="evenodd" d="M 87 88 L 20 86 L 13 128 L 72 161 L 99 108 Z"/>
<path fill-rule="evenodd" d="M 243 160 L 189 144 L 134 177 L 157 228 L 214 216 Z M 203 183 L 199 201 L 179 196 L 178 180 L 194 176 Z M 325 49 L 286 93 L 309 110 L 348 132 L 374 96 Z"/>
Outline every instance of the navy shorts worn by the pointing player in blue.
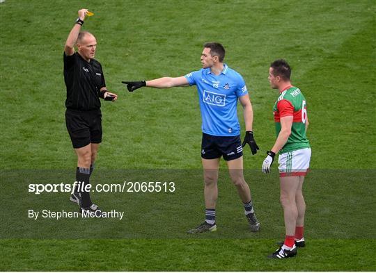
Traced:
<path fill-rule="evenodd" d="M 229 161 L 240 158 L 243 155 L 240 135 L 235 136 L 215 136 L 203 133 L 201 142 L 201 157 L 214 159 L 224 156 L 224 160 Z"/>

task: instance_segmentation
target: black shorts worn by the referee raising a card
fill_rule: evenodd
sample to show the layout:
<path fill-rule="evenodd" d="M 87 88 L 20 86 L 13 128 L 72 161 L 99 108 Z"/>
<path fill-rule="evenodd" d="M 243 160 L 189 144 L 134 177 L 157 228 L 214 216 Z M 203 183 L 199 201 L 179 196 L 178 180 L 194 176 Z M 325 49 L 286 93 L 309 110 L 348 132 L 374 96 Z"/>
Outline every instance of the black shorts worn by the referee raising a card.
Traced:
<path fill-rule="evenodd" d="M 75 149 L 90 143 L 102 142 L 102 113 L 100 109 L 90 111 L 67 109 L 65 124 Z"/>

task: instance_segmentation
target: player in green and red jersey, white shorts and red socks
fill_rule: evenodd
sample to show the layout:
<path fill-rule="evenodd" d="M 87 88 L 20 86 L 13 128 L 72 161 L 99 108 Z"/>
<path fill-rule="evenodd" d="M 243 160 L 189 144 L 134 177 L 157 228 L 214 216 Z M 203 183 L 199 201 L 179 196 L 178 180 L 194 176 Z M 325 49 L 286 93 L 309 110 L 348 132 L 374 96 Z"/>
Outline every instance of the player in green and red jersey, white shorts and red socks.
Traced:
<path fill-rule="evenodd" d="M 291 85 L 291 68 L 285 60 L 275 60 L 269 67 L 269 82 L 279 90 L 273 108 L 277 139 L 263 163 L 269 173 L 274 156 L 279 153 L 281 204 L 285 219 L 285 240 L 269 258 L 289 258 L 304 247 L 304 202 L 302 186 L 309 168 L 311 147 L 306 138 L 308 115 L 306 99 L 299 88 Z"/>

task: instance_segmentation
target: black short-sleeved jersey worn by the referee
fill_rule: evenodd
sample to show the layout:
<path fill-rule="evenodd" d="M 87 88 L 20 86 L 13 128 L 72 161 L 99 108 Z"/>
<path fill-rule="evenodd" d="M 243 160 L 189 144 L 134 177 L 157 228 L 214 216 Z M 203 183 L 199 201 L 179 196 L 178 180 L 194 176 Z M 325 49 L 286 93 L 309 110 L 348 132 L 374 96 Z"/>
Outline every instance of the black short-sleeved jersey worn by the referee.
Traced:
<path fill-rule="evenodd" d="M 100 88 L 106 86 L 102 65 L 97 60 L 86 62 L 79 53 L 66 56 L 64 52 L 64 81 L 67 86 L 65 107 L 75 110 L 100 108 Z"/>

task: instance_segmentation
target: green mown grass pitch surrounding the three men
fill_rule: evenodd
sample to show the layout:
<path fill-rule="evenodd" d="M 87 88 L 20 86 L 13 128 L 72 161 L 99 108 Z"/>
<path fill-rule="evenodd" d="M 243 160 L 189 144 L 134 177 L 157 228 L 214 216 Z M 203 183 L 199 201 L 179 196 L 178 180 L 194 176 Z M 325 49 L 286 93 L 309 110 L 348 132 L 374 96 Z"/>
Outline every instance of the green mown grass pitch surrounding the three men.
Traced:
<path fill-rule="evenodd" d="M 33 206 L 58 200 L 59 208 L 77 209 L 65 193 L 37 197 L 25 185 L 42 174 L 74 176 L 63 46 L 80 8 L 95 13 L 84 29 L 97 37 L 96 58 L 119 95 L 102 102 L 94 183 L 111 181 L 115 169 L 113 181 L 134 170 L 135 178 L 171 174 L 177 191 L 93 195 L 102 206 L 124 208 L 120 223 L 33 222 L 26 218 Z M 0 271 L 376 271 L 375 8 L 372 0 L 0 3 Z M 226 63 L 250 91 L 260 151 L 246 149 L 244 167 L 260 234 L 247 231 L 224 162 L 219 231 L 185 234 L 203 220 L 196 88 L 129 93 L 120 83 L 200 69 L 209 41 L 224 44 Z M 307 247 L 284 261 L 265 258 L 283 237 L 276 165 L 271 176 L 259 173 L 275 139 L 267 72 L 276 58 L 289 61 L 292 83 L 308 101 L 313 150 L 304 186 Z"/>

